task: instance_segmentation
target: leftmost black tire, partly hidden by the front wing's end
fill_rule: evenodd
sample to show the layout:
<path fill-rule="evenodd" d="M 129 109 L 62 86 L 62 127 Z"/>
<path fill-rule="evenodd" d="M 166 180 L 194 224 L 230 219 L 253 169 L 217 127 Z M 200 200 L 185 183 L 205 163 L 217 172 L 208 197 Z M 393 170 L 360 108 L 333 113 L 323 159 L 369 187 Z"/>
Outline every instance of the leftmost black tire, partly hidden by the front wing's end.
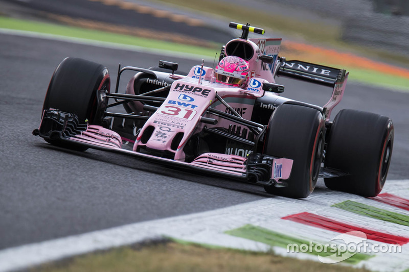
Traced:
<path fill-rule="evenodd" d="M 43 109 L 57 109 L 75 113 L 80 123 L 99 125 L 102 111 L 97 112 L 97 90 L 105 89 L 109 93 L 110 78 L 108 69 L 101 64 L 79 58 L 65 58 L 55 69 L 51 78 Z M 60 140 L 46 139 L 47 142 L 74 149 L 86 150 Z"/>

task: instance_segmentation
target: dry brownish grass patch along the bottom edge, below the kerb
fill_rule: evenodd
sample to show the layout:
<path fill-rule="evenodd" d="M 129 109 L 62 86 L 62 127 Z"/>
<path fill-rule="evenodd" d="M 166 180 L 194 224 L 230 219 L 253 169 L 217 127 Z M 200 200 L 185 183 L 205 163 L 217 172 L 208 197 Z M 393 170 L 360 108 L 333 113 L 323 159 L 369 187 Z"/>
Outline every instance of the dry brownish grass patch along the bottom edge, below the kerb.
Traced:
<path fill-rule="evenodd" d="M 232 249 L 208 249 L 174 242 L 125 246 L 65 261 L 41 265 L 32 271 L 367 271 L 340 265 Z"/>

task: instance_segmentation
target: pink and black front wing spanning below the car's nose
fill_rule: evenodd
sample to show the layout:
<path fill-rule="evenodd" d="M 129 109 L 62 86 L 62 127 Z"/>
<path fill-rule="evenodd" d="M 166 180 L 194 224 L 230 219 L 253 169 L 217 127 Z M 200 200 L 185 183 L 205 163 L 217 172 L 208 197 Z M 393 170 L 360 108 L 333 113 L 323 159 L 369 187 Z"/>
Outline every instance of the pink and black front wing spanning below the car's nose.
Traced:
<path fill-rule="evenodd" d="M 40 127 L 34 130 L 33 134 L 61 146 L 122 153 L 158 164 L 188 168 L 209 175 L 276 187 L 287 186 L 285 180 L 291 175 L 293 162 L 291 159 L 263 154 L 249 154 L 247 158 L 243 158 L 218 153 L 201 154 L 192 162 L 184 162 L 134 152 L 122 148 L 122 139 L 116 132 L 101 126 L 81 125 L 75 114 L 52 109 L 44 110 Z"/>

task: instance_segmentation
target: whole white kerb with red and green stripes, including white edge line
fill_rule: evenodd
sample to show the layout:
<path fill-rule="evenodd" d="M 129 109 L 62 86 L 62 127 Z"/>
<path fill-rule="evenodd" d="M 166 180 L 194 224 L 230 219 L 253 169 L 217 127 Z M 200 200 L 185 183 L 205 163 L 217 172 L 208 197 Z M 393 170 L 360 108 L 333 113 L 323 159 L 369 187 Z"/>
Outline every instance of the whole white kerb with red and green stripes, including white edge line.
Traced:
<path fill-rule="evenodd" d="M 322 190 L 307 199 L 271 197 L 0 251 L 0 271 L 97 250 L 173 238 L 376 271 L 409 268 L 409 180 L 389 180 L 376 197 Z"/>

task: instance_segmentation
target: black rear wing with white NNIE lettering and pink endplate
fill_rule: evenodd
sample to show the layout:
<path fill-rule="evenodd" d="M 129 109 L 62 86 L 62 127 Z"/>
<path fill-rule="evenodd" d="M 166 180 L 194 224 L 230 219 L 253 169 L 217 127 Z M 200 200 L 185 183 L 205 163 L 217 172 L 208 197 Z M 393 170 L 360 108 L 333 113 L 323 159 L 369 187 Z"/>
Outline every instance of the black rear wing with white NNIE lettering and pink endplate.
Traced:
<path fill-rule="evenodd" d="M 287 61 L 280 58 L 279 61 L 277 77 L 287 77 L 332 88 L 331 99 L 325 104 L 323 112 L 325 120 L 329 121 L 332 109 L 342 100 L 349 73 L 344 69 L 298 60 Z"/>

